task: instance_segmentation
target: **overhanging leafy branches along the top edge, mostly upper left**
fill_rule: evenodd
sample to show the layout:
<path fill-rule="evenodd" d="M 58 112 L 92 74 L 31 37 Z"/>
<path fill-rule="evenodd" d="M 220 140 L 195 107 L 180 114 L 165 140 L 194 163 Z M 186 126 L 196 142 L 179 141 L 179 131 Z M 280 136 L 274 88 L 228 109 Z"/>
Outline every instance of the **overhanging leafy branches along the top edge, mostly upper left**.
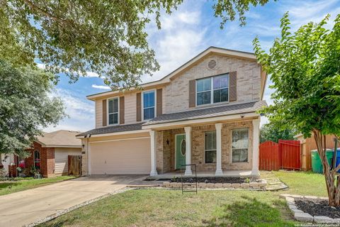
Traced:
<path fill-rule="evenodd" d="M 268 0 L 213 0 L 221 27 L 250 6 Z M 183 0 L 0 0 L 0 59 L 64 72 L 71 81 L 96 72 L 113 89 L 136 87 L 142 74 L 159 70 L 145 26 Z"/>

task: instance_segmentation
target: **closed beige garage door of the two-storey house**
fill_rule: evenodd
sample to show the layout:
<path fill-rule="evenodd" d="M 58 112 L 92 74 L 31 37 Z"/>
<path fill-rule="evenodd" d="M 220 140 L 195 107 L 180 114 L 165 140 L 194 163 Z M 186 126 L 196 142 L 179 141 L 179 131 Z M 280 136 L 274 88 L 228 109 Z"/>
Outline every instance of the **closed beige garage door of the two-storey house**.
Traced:
<path fill-rule="evenodd" d="M 90 143 L 91 175 L 145 175 L 151 170 L 149 138 Z"/>

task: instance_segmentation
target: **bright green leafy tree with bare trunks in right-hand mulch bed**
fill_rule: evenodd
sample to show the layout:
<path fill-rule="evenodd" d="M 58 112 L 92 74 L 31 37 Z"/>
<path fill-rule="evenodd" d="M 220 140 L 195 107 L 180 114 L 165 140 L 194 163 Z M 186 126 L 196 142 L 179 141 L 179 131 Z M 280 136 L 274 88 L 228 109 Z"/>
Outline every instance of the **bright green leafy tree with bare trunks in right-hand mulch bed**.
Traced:
<path fill-rule="evenodd" d="M 305 138 L 313 133 L 324 166 L 330 206 L 340 206 L 340 180 L 326 157 L 325 135 L 340 135 L 340 15 L 333 28 L 325 28 L 329 16 L 320 23 L 307 23 L 290 32 L 288 13 L 281 19 L 281 37 L 268 53 L 259 40 L 254 49 L 264 70 L 271 74 L 274 104 L 263 109 L 270 121 L 293 126 Z"/>

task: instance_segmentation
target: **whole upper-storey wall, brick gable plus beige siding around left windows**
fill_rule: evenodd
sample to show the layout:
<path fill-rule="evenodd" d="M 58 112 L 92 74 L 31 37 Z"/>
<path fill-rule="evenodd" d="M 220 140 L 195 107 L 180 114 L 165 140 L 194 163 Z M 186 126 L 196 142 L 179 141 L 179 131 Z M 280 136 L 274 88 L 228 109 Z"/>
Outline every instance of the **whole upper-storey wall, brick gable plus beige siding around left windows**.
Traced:
<path fill-rule="evenodd" d="M 216 60 L 217 67 L 208 69 L 208 62 Z M 254 60 L 242 60 L 235 57 L 210 55 L 196 62 L 188 70 L 179 73 L 169 84 L 162 87 L 162 113 L 171 114 L 180 111 L 199 109 L 202 106 L 189 108 L 189 81 L 217 74 L 237 72 L 237 99 L 230 104 L 238 104 L 261 100 L 261 66 Z M 137 123 L 136 121 L 136 94 L 139 90 L 125 92 L 125 124 Z M 117 95 L 116 95 L 117 96 Z M 96 99 L 96 128 L 103 127 L 103 99 L 113 96 L 103 96 Z M 224 103 L 225 104 L 225 103 Z M 221 104 L 212 104 L 221 105 Z M 207 107 L 207 106 L 205 106 Z"/>

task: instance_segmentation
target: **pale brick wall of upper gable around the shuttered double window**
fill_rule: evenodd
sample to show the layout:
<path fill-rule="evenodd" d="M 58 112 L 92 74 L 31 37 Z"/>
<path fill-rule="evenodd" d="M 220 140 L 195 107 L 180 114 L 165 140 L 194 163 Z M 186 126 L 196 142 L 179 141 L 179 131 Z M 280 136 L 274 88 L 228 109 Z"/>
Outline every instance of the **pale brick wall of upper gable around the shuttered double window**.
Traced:
<path fill-rule="evenodd" d="M 217 62 L 217 67 L 215 67 L 214 70 L 209 70 L 207 67 L 211 59 Z M 205 57 L 203 61 L 180 74 L 179 77 L 176 77 L 165 87 L 163 104 L 165 105 L 165 113 L 169 114 L 189 110 L 188 83 L 191 79 L 211 77 L 233 71 L 237 71 L 237 101 L 232 101 L 232 104 L 260 101 L 260 65 L 254 61 L 216 55 Z M 195 109 L 195 107 L 191 109 Z"/>

